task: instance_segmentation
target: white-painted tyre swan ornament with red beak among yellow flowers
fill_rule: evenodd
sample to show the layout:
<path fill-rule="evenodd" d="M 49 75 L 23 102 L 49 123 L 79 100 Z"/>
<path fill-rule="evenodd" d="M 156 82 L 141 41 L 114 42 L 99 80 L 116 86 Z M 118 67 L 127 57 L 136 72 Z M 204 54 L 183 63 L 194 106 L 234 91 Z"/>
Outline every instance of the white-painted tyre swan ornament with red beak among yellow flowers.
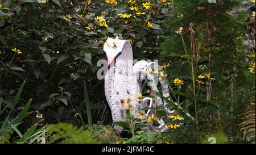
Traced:
<path fill-rule="evenodd" d="M 170 97 L 169 89 L 166 81 L 166 77 L 160 77 L 158 74 L 150 72 L 152 67 L 154 70 L 159 70 L 158 64 L 155 62 L 139 61 L 133 66 L 133 50 L 128 40 L 119 40 L 108 38 L 104 44 L 104 52 L 108 58 L 108 65 L 113 65 L 109 68 L 105 75 L 105 95 L 106 100 L 112 112 L 113 122 L 126 122 L 125 109 L 128 105 L 131 105 L 131 114 L 134 118 L 139 118 L 137 114 L 144 114 L 142 118 L 147 119 L 154 114 L 152 109 L 141 110 L 143 108 L 154 108 L 156 106 L 164 106 L 166 108 L 166 102 L 160 97 L 156 96 L 155 101 L 153 98 L 143 98 L 139 103 L 137 98 L 138 93 L 142 93 L 142 80 L 147 78 L 150 83 L 151 91 L 157 91 L 158 78 L 160 80 L 160 86 L 162 88 L 162 94 L 164 97 Z M 115 62 L 115 63 L 113 63 Z M 166 108 L 166 112 L 171 113 Z M 149 127 L 144 128 L 149 131 L 163 132 L 166 131 L 167 125 L 162 119 L 158 120 L 158 125 L 149 124 Z M 114 125 L 114 128 L 118 132 L 123 131 L 123 127 Z"/>

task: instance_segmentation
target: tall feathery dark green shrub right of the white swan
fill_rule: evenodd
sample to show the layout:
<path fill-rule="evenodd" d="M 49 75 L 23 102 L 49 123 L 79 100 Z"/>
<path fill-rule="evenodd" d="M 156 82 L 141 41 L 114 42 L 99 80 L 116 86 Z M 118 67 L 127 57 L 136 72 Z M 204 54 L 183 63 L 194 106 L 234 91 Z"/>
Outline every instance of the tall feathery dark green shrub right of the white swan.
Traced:
<path fill-rule="evenodd" d="M 174 14 L 164 23 L 169 35 L 164 37 L 164 43 L 161 45 L 164 61 L 171 61 L 171 68 L 167 70 L 170 81 L 180 77 L 189 84 L 189 87 L 181 88 L 185 92 L 181 100 L 183 107 L 192 114 L 195 113 L 191 102 L 194 100 L 191 92 L 191 77 L 189 77 L 191 73 L 187 60 L 180 57 L 184 55 L 184 47 L 180 35 L 176 34 L 179 27 L 183 27 L 185 46 L 188 55 L 192 55 L 191 33 L 188 27 L 193 23 L 199 51 L 199 59 L 194 64 L 198 66 L 196 78 L 204 73 L 210 73 L 210 76 L 215 78 L 209 100 L 204 99 L 206 89 L 203 86 L 200 87 L 199 96 L 195 99 L 199 102 L 197 114 L 201 127 L 200 135 L 204 137 L 205 134 L 214 131 L 224 131 L 237 137 L 239 132 L 237 125 L 241 123 L 238 115 L 243 113 L 246 98 L 250 98 L 248 93 L 255 90 L 251 85 L 255 83 L 255 75 L 249 73 L 245 58 L 250 47 L 243 44 L 245 27 L 248 24 L 246 19 L 249 15 L 246 11 L 240 10 L 244 7 L 240 0 L 216 1 L 216 3 L 174 0 L 173 4 Z M 197 86 L 196 89 L 198 90 L 199 87 Z"/>

